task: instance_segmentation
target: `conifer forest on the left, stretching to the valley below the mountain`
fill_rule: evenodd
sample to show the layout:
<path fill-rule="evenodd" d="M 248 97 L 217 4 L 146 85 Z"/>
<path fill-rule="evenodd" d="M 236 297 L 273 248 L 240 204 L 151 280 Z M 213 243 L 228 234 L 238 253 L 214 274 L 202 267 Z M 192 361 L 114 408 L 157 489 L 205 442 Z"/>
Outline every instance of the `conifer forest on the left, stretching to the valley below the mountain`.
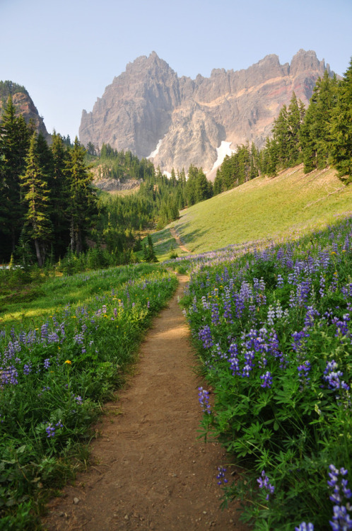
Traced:
<path fill-rule="evenodd" d="M 0 123 L 0 263 L 40 267 L 79 257 L 78 267 L 101 267 L 136 261 L 139 234 L 163 228 L 186 205 L 207 199 L 212 185 L 201 169 L 190 166 L 188 178 L 171 177 L 131 152 L 102 144 L 83 147 L 78 139 L 53 133 L 51 143 L 17 115 L 13 90 Z M 93 187 L 93 172 L 141 180 L 138 192 L 119 196 Z M 153 260 L 147 248 L 146 260 Z M 77 263 L 77 260 L 76 260 Z"/>

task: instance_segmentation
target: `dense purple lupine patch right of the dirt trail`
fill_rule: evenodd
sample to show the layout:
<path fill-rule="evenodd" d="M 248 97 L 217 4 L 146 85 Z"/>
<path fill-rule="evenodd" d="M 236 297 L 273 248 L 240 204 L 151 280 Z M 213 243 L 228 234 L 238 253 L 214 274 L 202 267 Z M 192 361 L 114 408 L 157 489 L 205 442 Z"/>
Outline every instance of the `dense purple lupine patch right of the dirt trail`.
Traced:
<path fill-rule="evenodd" d="M 254 530 L 352 529 L 352 218 L 187 260 L 203 433 L 246 471 L 223 503 Z"/>

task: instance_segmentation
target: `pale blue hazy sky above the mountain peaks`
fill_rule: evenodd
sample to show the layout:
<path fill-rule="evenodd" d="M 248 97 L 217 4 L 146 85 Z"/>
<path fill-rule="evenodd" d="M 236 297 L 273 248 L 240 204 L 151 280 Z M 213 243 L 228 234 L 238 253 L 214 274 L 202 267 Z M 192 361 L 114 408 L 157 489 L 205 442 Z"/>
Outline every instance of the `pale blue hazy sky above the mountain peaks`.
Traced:
<path fill-rule="evenodd" d="M 126 64 L 153 50 L 179 76 L 315 50 L 352 57 L 352 0 L 0 0 L 0 80 L 24 85 L 48 132 L 78 135 Z"/>

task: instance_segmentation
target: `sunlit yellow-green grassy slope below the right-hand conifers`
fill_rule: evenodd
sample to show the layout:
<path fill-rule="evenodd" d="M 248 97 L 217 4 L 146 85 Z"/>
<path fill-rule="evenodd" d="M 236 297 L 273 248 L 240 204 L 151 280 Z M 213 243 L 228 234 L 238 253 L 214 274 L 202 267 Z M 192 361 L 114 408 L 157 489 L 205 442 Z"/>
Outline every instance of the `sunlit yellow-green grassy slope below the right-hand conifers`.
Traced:
<path fill-rule="evenodd" d="M 352 187 L 344 186 L 334 169 L 305 174 L 301 165 L 275 178 L 255 178 L 183 210 L 172 227 L 187 249 L 201 253 L 228 244 L 301 234 L 351 210 Z M 158 256 L 157 241 L 155 249 Z"/>

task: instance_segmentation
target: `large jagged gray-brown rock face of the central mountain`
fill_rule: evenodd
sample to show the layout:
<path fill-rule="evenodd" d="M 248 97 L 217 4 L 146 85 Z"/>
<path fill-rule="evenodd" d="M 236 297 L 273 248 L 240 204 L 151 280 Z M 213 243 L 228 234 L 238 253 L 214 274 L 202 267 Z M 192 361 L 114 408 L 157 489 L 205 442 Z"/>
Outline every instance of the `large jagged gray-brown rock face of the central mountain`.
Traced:
<path fill-rule="evenodd" d="M 283 103 L 294 91 L 307 105 L 325 69 L 330 73 L 315 52 L 300 50 L 291 64 L 267 55 L 246 70 L 213 69 L 210 78 L 192 80 L 152 52 L 127 64 L 91 113 L 83 110 L 79 137 L 140 158 L 154 152 L 151 160 L 162 171 L 190 164 L 210 171 L 222 141 L 232 149 L 247 140 L 262 147 Z"/>

